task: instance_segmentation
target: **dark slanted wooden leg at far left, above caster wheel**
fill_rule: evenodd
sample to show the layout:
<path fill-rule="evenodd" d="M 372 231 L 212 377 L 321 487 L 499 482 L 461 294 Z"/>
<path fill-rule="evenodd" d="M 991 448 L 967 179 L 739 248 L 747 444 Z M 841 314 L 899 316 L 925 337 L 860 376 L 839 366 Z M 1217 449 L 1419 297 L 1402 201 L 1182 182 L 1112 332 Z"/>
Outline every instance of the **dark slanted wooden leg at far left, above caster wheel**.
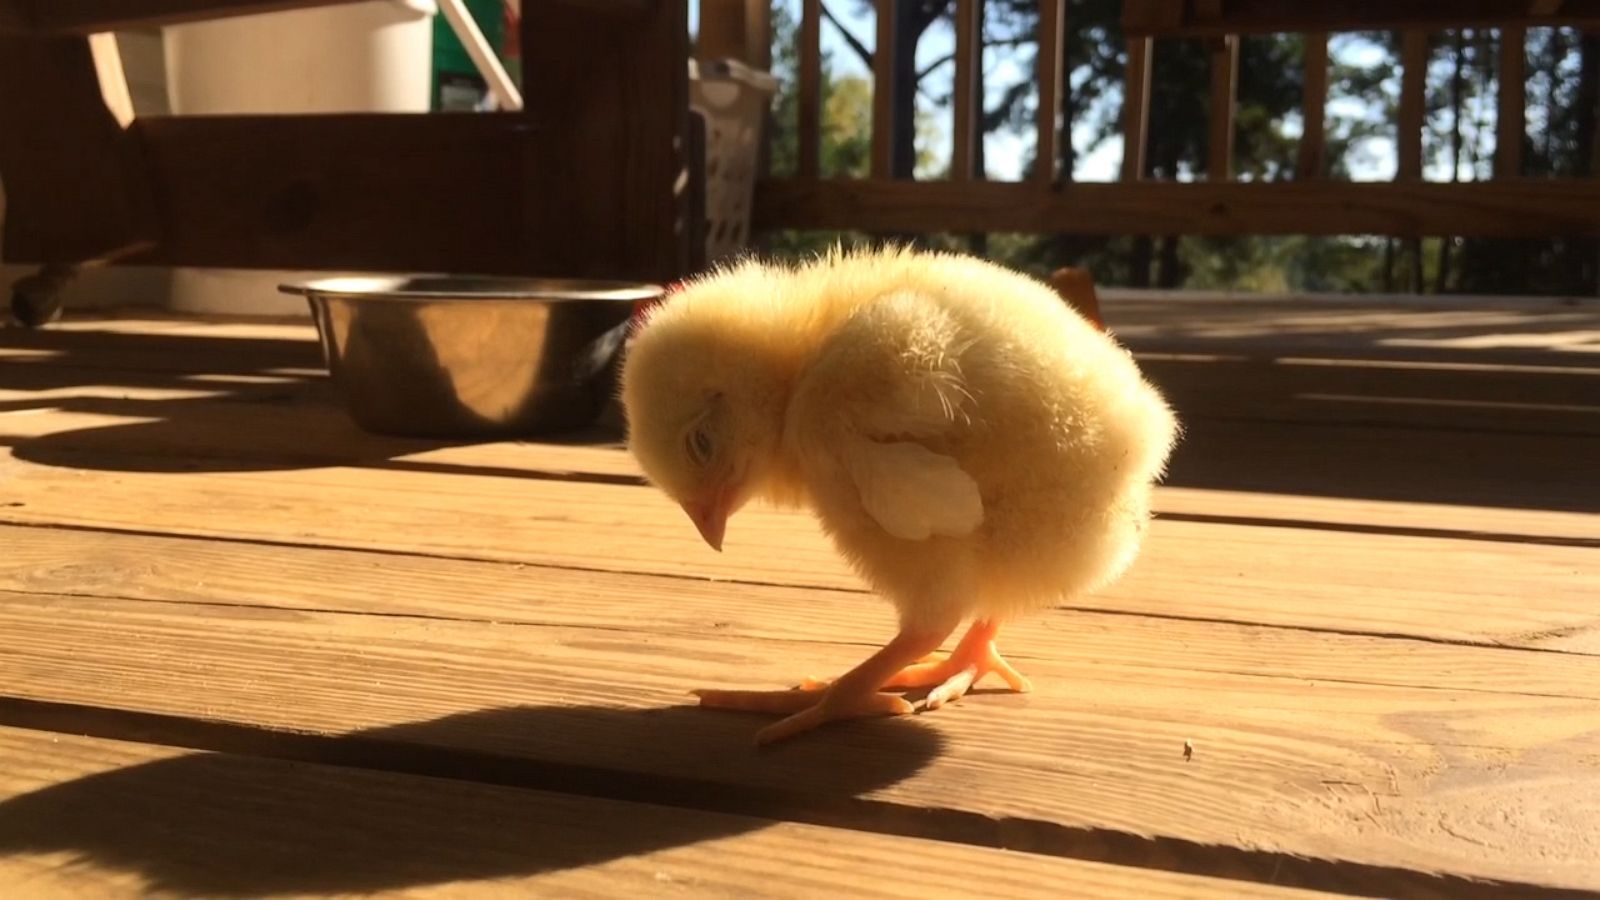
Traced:
<path fill-rule="evenodd" d="M 109 261 L 154 245 L 155 199 L 106 107 L 90 38 L 0 37 L 0 123 L 6 261 Z"/>

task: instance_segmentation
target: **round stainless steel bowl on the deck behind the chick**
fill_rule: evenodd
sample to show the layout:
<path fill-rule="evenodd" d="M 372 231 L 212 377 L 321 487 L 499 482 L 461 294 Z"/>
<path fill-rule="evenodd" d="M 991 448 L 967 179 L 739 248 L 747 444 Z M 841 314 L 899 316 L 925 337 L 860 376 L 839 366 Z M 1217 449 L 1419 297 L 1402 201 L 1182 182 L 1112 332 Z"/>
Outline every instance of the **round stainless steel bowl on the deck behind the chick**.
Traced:
<path fill-rule="evenodd" d="M 635 282 L 334 277 L 304 296 L 330 375 L 366 431 L 531 437 L 590 424 L 611 397 Z"/>

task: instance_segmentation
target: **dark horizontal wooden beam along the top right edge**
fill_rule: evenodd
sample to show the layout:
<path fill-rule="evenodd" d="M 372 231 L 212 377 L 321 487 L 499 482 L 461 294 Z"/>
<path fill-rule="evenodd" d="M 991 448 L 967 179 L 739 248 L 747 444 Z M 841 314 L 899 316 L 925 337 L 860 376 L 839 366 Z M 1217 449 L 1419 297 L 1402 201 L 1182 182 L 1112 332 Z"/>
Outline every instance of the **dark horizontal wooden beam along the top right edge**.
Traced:
<path fill-rule="evenodd" d="M 1203 8 L 1208 6 L 1208 8 Z M 1123 8 L 1123 34 L 1202 37 L 1226 34 L 1445 29 L 1488 26 L 1595 26 L 1600 0 L 1566 0 L 1542 11 L 1530 0 L 1139 0 Z"/>

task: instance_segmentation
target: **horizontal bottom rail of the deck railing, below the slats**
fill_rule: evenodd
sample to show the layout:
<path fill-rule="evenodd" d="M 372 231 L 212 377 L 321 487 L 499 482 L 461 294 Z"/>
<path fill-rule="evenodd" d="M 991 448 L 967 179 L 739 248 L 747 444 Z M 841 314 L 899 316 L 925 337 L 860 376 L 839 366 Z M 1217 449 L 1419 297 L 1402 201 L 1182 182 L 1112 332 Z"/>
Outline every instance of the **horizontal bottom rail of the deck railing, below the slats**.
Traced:
<path fill-rule="evenodd" d="M 768 179 L 763 229 L 1035 234 L 1600 234 L 1600 179 L 1026 183 Z"/>

